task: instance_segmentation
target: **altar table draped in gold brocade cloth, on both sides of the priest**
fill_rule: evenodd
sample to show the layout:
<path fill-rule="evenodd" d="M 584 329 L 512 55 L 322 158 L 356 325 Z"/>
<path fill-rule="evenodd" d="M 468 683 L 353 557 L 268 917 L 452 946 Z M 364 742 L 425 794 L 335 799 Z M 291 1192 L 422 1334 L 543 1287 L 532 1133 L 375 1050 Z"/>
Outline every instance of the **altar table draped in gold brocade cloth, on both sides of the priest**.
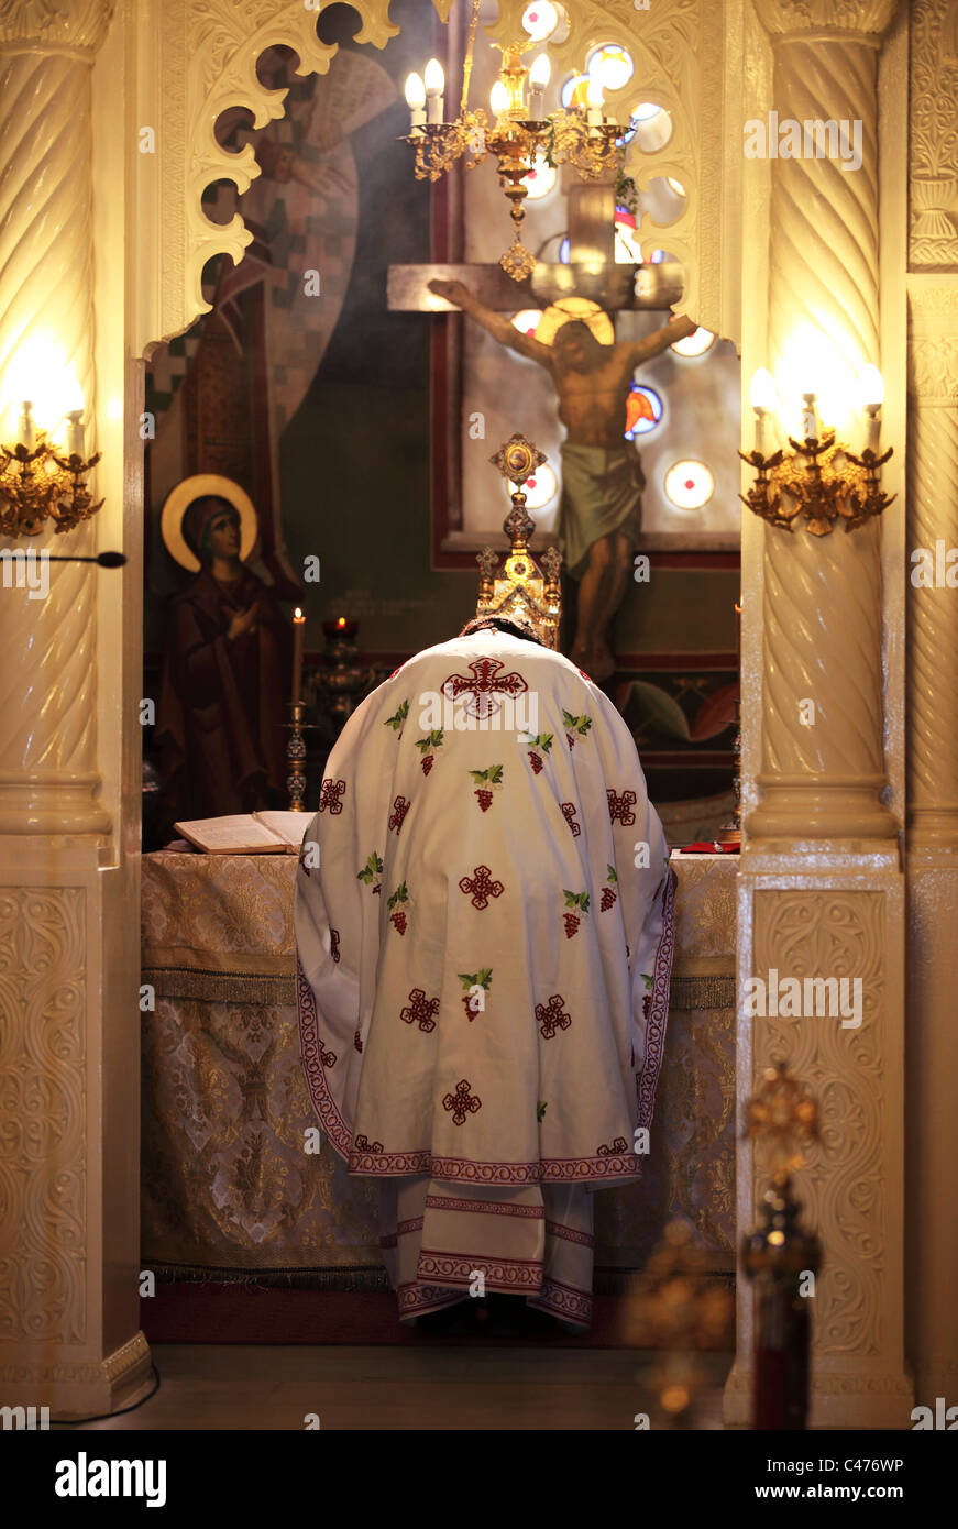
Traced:
<path fill-rule="evenodd" d="M 640 1269 L 680 1217 L 735 1268 L 736 856 L 672 856 L 675 962 L 646 1173 L 596 1194 L 596 1271 Z M 385 1289 L 376 1185 L 322 1139 L 299 1067 L 293 855 L 142 862 L 142 1266 Z M 610 1275 L 610 1278 L 613 1278 Z M 599 1287 L 599 1281 L 597 1281 Z"/>

